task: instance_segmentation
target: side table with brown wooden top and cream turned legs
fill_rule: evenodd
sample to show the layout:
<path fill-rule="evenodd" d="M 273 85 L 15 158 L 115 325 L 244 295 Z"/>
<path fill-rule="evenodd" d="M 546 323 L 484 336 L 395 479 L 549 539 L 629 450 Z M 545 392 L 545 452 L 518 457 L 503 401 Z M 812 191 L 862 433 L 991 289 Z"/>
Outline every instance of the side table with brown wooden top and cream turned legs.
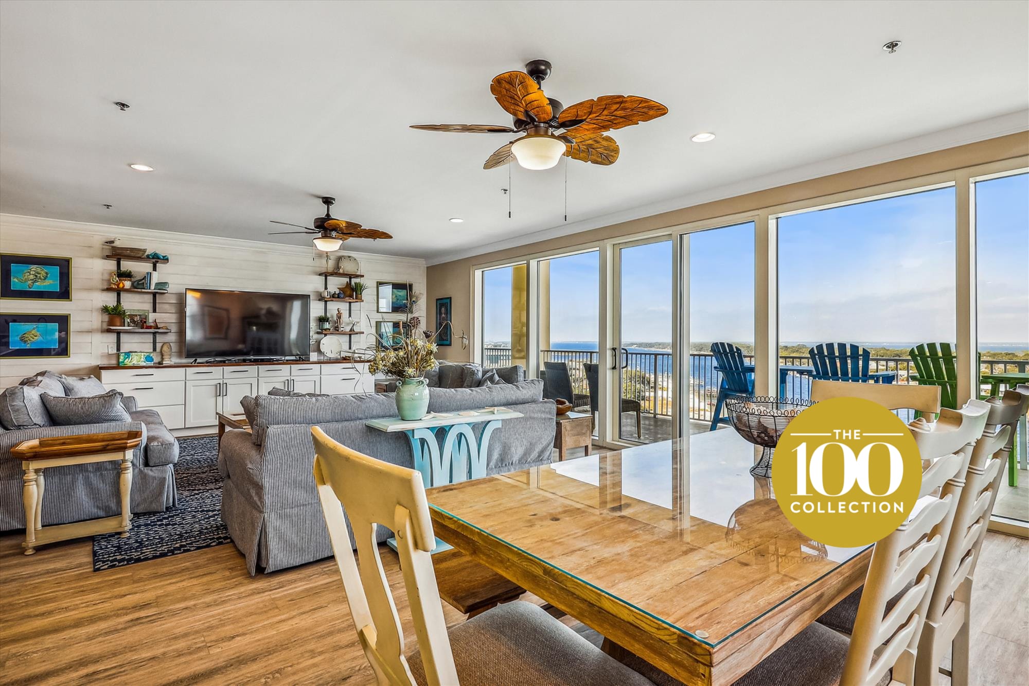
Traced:
<path fill-rule="evenodd" d="M 143 440 L 142 432 L 110 432 L 106 434 L 83 434 L 80 436 L 58 436 L 52 438 L 23 441 L 11 448 L 14 459 L 22 460 L 25 472 L 22 500 L 25 504 L 25 554 L 31 555 L 36 548 L 55 541 L 67 541 L 98 534 L 120 534 L 129 536 L 132 528 L 130 498 L 132 494 L 132 453 Z M 43 527 L 44 470 L 68 465 L 88 465 L 118 460 L 118 494 L 121 514 L 57 524 Z"/>

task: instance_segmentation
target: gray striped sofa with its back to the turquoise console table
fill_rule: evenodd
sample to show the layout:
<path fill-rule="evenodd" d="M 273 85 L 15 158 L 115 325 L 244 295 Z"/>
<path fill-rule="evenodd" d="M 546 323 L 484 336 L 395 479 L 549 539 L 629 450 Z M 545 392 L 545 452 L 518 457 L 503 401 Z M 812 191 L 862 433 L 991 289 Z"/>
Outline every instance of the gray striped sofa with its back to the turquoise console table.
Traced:
<path fill-rule="evenodd" d="M 539 379 L 480 388 L 430 388 L 429 410 L 502 406 L 525 415 L 504 421 L 490 439 L 487 470 L 501 474 L 549 464 L 555 406 L 542 395 Z M 257 396 L 244 399 L 243 408 L 253 434 L 225 432 L 218 469 L 223 479 L 221 518 L 236 547 L 246 556 L 251 575 L 258 568 L 275 572 L 332 554 L 312 473 L 312 426 L 320 426 L 354 450 L 413 467 L 411 446 L 402 434 L 385 434 L 364 425 L 368 419 L 396 416 L 393 393 Z M 482 424 L 474 431 L 477 436 Z M 380 541 L 390 536 L 388 529 L 379 528 Z"/>

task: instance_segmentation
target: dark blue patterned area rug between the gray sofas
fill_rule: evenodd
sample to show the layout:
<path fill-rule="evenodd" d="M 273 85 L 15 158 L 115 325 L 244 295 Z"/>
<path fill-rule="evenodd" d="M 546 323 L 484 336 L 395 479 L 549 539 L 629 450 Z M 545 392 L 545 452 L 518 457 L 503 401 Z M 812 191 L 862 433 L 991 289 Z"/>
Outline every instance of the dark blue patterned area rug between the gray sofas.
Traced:
<path fill-rule="evenodd" d="M 175 485 L 178 506 L 133 515 L 128 538 L 117 534 L 93 537 L 94 572 L 232 542 L 221 521 L 217 438 L 179 439 Z"/>

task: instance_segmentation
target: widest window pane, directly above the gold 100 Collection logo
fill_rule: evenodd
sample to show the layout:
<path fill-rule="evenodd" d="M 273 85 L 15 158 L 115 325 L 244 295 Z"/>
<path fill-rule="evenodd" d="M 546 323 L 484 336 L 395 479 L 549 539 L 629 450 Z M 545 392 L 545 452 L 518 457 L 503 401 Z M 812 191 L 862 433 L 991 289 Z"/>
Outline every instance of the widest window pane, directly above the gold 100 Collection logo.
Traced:
<path fill-rule="evenodd" d="M 908 351 L 957 336 L 955 216 L 947 186 L 779 217 L 780 364 L 853 343 L 871 351 L 871 374 L 914 382 Z M 793 378 L 786 393 L 809 388 Z"/>

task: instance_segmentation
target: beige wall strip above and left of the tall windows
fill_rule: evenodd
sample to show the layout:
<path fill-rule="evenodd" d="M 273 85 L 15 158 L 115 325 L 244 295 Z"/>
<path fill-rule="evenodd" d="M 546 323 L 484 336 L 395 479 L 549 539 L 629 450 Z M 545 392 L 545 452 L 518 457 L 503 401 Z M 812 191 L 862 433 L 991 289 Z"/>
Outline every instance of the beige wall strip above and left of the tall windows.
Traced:
<path fill-rule="evenodd" d="M 451 318 L 454 322 L 454 329 L 457 334 L 460 334 L 464 330 L 471 339 L 468 349 L 462 350 L 460 341 L 455 336 L 454 346 L 440 348 L 439 356 L 445 359 L 459 361 L 467 361 L 472 357 L 472 350 L 476 344 L 471 325 L 472 274 L 476 266 L 499 261 L 513 261 L 525 255 L 540 252 L 560 251 L 583 243 L 622 238 L 668 227 L 702 221 L 730 214 L 750 212 L 785 203 L 821 198 L 837 193 L 953 171 L 962 167 L 1009 160 L 1025 155 L 1029 155 L 1029 132 L 991 138 L 967 145 L 959 145 L 880 165 L 749 193 L 743 196 L 694 205 L 691 207 L 683 207 L 671 212 L 663 212 L 632 221 L 623 221 L 569 236 L 561 236 L 559 238 L 430 266 L 426 270 L 428 283 L 426 301 L 429 303 L 429 307 L 434 308 L 436 298 L 445 298 L 447 296 L 453 298 Z"/>

